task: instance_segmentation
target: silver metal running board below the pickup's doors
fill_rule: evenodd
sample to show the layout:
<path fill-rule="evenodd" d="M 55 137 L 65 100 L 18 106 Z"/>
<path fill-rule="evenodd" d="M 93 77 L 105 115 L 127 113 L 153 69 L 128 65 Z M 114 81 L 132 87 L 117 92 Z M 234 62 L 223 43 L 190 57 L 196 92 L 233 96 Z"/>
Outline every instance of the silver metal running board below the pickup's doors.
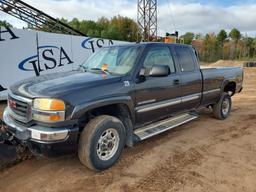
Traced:
<path fill-rule="evenodd" d="M 196 113 L 185 113 L 134 130 L 135 141 L 145 140 L 196 119 Z"/>

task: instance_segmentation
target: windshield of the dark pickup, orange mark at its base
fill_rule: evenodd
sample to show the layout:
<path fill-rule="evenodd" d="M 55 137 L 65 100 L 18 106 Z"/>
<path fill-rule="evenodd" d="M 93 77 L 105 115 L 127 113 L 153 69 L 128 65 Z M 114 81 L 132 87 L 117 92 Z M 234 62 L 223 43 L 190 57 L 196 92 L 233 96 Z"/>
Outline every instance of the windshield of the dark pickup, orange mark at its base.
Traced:
<path fill-rule="evenodd" d="M 124 75 L 133 68 L 139 49 L 134 46 L 102 48 L 89 57 L 82 67 L 89 71 Z"/>

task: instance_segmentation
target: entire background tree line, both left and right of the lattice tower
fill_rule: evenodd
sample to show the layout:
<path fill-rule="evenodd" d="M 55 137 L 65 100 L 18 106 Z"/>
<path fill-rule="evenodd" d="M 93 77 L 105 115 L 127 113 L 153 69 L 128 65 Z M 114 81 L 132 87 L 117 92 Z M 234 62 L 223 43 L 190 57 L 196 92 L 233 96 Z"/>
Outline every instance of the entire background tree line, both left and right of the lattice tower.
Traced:
<path fill-rule="evenodd" d="M 77 18 L 70 21 L 61 18 L 60 21 L 89 37 L 130 42 L 135 42 L 141 38 L 138 36 L 137 23 L 133 19 L 120 15 L 111 19 L 101 17 L 97 21 L 78 20 Z M 1 20 L 0 26 L 12 27 L 8 22 Z M 28 26 L 28 28 L 32 27 Z M 42 30 L 50 31 L 47 27 Z M 222 29 L 217 34 L 207 33 L 205 35 L 187 32 L 180 38 L 184 39 L 185 44 L 192 44 L 197 49 L 201 61 L 251 60 L 256 58 L 256 38 L 243 36 L 236 28 L 229 33 Z"/>

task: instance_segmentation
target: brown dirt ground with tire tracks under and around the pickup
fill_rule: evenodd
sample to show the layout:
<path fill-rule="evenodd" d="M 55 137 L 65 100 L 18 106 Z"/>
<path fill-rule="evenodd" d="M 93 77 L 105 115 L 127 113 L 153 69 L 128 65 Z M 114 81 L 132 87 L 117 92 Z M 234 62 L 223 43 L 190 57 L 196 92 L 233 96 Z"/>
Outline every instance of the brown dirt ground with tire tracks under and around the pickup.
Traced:
<path fill-rule="evenodd" d="M 203 110 L 193 122 L 126 148 L 101 173 L 75 156 L 32 158 L 0 173 L 0 191 L 255 192 L 256 68 L 244 70 L 244 90 L 224 121 Z"/>

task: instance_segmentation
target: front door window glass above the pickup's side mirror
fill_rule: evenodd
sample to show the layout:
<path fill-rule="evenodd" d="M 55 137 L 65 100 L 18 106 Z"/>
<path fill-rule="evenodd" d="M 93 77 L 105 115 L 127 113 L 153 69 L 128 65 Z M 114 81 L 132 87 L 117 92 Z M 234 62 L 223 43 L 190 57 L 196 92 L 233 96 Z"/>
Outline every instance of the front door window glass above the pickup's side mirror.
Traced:
<path fill-rule="evenodd" d="M 143 66 L 151 69 L 153 65 L 168 65 L 171 73 L 175 72 L 172 55 L 168 47 L 152 47 L 144 60 Z"/>

